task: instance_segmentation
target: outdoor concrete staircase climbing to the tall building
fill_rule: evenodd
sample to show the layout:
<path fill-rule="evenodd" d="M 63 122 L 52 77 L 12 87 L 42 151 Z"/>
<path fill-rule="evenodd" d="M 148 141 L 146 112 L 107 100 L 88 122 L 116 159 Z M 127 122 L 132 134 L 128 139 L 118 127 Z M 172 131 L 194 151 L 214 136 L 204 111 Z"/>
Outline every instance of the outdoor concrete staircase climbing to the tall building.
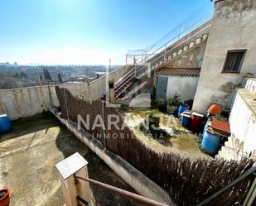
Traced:
<path fill-rule="evenodd" d="M 141 65 L 134 66 L 128 74 L 125 74 L 114 85 L 115 98 L 122 98 L 125 93 L 128 93 L 128 89 L 134 81 L 143 79 L 146 76 L 149 77 L 155 70 L 170 64 L 171 61 L 176 60 L 182 55 L 186 55 L 197 46 L 200 46 L 201 43 L 207 40 L 210 26 L 211 22 L 206 22 L 204 25 L 199 26 L 196 30 L 191 31 L 188 35 L 171 44 L 171 46 L 167 46 L 168 42 L 161 47 L 161 51 L 157 49 L 157 52 L 146 56 L 142 60 Z"/>

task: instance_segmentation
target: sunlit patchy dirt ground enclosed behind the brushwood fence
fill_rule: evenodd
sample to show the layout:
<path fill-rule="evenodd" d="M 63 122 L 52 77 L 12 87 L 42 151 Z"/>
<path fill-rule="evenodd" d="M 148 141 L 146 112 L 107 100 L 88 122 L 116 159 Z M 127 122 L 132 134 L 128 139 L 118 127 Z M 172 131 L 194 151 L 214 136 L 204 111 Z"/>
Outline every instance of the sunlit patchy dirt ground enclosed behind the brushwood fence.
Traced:
<path fill-rule="evenodd" d="M 171 137 L 159 140 L 156 138 L 148 137 L 144 132 L 138 128 L 139 123 L 143 122 L 146 113 L 151 111 L 160 116 L 160 127 L 167 132 L 171 133 Z M 167 114 L 161 113 L 156 109 L 126 112 L 125 122 L 130 127 L 136 137 L 138 137 L 147 147 L 152 150 L 163 152 L 174 152 L 181 156 L 190 156 L 191 158 L 210 158 L 205 153 L 200 151 L 200 148 L 196 142 L 196 136 L 181 126 L 179 119 Z"/>

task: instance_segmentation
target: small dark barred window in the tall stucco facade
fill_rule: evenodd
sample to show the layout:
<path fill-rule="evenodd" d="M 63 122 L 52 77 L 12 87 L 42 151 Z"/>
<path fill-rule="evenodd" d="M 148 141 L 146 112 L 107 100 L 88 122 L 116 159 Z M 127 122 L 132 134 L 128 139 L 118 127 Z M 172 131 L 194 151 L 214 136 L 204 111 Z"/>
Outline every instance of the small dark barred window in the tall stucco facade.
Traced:
<path fill-rule="evenodd" d="M 228 50 L 222 72 L 239 72 L 244 61 L 246 50 Z"/>

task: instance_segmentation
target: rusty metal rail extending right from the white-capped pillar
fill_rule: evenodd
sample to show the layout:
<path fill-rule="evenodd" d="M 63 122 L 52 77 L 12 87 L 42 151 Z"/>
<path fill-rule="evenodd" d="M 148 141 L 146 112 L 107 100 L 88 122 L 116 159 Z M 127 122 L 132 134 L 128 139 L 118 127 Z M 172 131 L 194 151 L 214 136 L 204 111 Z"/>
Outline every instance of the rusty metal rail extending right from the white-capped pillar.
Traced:
<path fill-rule="evenodd" d="M 136 199 L 142 203 L 145 203 L 145 204 L 149 204 L 149 205 L 152 205 L 152 206 L 168 206 L 169 204 L 162 204 L 162 203 L 159 203 L 157 202 L 156 200 L 153 200 L 153 199 L 148 199 L 142 195 L 139 195 L 139 194 L 134 194 L 132 192 L 128 192 L 127 190 L 124 190 L 124 189 L 119 189 L 117 187 L 114 187 L 112 185 L 109 185 L 109 184 L 104 184 L 102 182 L 99 182 L 97 180 L 92 180 L 92 179 L 89 179 L 89 178 L 85 178 L 85 177 L 81 177 L 79 175 L 74 175 L 75 178 L 78 178 L 80 180 L 84 180 L 86 182 L 89 182 L 89 183 L 92 183 L 92 184 L 96 184 L 96 185 L 99 185 L 100 187 L 103 187 L 105 189 L 109 189 L 109 190 L 112 190 L 118 194 L 121 194 L 123 196 L 127 196 L 129 198 L 132 198 L 132 199 Z"/>

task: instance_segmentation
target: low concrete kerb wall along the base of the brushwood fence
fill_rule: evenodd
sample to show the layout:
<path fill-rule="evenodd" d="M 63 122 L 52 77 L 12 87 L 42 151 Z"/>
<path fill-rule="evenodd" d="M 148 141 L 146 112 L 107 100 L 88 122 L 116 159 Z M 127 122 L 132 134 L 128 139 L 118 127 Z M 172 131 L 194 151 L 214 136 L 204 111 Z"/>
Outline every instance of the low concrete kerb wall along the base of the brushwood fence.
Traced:
<path fill-rule="evenodd" d="M 92 135 L 81 128 L 79 131 L 75 123 L 69 122 L 56 114 L 57 111 L 51 109 L 53 113 L 67 127 L 70 132 L 73 132 L 75 137 L 80 139 L 91 151 L 94 151 L 99 158 L 109 165 L 114 172 L 119 175 L 127 184 L 135 189 L 138 194 L 159 201 L 163 204 L 175 205 L 171 202 L 171 199 L 167 192 L 161 187 L 155 184 L 152 180 L 149 180 L 145 175 L 128 164 L 126 160 L 123 160 L 120 156 L 115 155 L 113 152 L 105 150 L 104 146 L 95 139 Z"/>

